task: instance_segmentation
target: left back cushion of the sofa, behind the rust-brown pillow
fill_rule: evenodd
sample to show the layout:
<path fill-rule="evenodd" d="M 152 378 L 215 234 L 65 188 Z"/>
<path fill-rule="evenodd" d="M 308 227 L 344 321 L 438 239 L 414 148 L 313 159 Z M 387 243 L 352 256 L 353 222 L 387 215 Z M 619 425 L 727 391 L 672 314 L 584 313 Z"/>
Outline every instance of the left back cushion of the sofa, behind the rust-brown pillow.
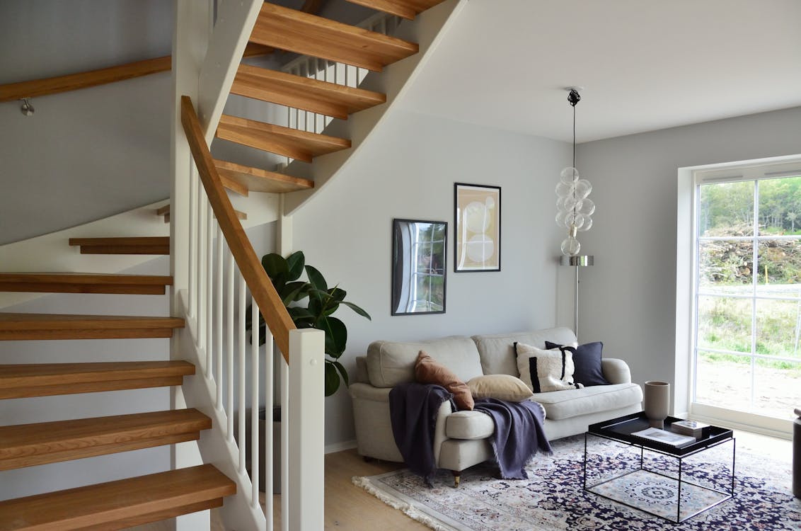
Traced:
<path fill-rule="evenodd" d="M 414 364 L 421 350 L 453 371 L 459 380 L 481 376 L 476 344 L 467 336 L 451 336 L 431 341 L 373 341 L 367 348 L 370 384 L 394 387 L 414 381 Z"/>

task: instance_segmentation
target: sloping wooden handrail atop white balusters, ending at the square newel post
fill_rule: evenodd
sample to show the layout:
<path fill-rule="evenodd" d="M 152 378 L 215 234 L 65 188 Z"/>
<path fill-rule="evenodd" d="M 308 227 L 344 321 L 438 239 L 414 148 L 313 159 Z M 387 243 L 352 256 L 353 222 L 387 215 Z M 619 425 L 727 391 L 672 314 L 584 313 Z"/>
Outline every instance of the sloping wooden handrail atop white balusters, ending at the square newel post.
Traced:
<path fill-rule="evenodd" d="M 239 266 L 239 271 L 242 272 L 253 299 L 259 305 L 261 315 L 264 316 L 264 320 L 270 327 L 276 344 L 284 355 L 284 360 L 289 363 L 289 331 L 296 328 L 295 323 L 292 322 L 292 317 L 289 316 L 276 288 L 272 286 L 267 272 L 262 268 L 256 251 L 253 250 L 248 236 L 245 235 L 242 223 L 239 223 L 239 219 L 236 218 L 234 207 L 231 206 L 231 200 L 225 193 L 223 183 L 214 165 L 214 159 L 211 158 L 203 136 L 195 107 L 189 96 L 181 96 L 181 124 L 187 135 L 195 166 L 198 168 L 200 180 L 206 190 L 206 195 L 208 195 L 208 202 L 211 203 L 211 209 L 217 218 L 219 228 L 223 231 L 231 254 L 236 260 L 236 265 Z"/>

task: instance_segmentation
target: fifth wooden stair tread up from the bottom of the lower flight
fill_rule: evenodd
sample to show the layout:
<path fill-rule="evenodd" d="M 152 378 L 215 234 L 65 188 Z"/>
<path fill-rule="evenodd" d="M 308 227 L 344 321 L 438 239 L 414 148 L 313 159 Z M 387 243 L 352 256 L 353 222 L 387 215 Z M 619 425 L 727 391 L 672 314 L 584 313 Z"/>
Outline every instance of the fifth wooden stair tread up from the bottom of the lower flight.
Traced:
<path fill-rule="evenodd" d="M 163 295 L 171 276 L 103 273 L 0 273 L 0 292 Z"/>

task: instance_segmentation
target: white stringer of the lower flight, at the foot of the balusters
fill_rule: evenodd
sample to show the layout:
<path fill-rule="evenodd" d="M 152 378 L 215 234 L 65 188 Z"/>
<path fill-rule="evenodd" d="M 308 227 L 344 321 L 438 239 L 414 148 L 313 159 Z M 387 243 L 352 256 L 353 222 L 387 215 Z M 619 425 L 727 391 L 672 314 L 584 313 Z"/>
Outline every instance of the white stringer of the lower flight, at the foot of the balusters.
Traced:
<path fill-rule="evenodd" d="M 185 292 L 179 294 L 182 303 L 185 300 L 184 296 Z M 195 465 L 215 465 L 231 481 L 235 481 L 237 493 L 250 493 L 252 491 L 250 477 L 248 473 L 239 470 L 239 449 L 235 440 L 228 437 L 227 415 L 222 408 L 215 407 L 215 382 L 205 376 L 203 367 L 206 365 L 207 356 L 206 352 L 196 346 L 195 321 L 187 316 L 186 312 L 181 312 L 181 315 L 184 316 L 187 325 L 182 330 L 176 331 L 173 344 L 179 348 L 177 357 L 194 364 L 197 370 L 195 376 L 185 377 L 181 387 L 176 388 L 177 401 L 182 403 L 183 407 L 196 408 L 211 418 L 211 428 L 201 432 L 199 440 L 182 443 L 183 451 L 191 455 L 192 446 L 195 446 L 197 449 Z M 183 466 L 189 465 L 185 463 Z M 223 521 L 228 529 L 264 527 L 264 513 L 261 507 L 254 508 L 244 496 L 226 497 L 220 510 L 224 513 Z"/>

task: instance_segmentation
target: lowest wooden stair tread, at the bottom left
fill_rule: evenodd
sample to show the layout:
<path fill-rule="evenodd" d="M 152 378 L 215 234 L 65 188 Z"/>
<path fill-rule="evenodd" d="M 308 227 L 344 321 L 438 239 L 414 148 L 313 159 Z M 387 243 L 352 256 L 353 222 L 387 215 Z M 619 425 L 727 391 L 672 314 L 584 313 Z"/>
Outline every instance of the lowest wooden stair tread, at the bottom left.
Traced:
<path fill-rule="evenodd" d="M 0 501 L 0 531 L 121 529 L 219 507 L 235 493 L 233 481 L 200 465 Z"/>

